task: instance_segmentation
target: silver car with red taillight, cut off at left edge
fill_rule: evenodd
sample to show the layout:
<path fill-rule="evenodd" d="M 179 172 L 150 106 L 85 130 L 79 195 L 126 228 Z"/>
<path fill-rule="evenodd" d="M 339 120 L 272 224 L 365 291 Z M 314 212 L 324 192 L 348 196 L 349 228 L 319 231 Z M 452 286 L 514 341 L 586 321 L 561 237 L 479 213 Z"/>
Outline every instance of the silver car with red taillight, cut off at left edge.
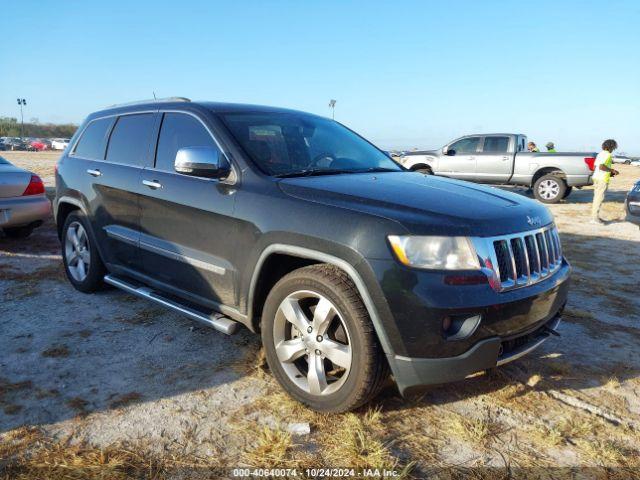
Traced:
<path fill-rule="evenodd" d="M 51 215 L 51 202 L 39 176 L 0 157 L 0 229 L 26 238 Z"/>

